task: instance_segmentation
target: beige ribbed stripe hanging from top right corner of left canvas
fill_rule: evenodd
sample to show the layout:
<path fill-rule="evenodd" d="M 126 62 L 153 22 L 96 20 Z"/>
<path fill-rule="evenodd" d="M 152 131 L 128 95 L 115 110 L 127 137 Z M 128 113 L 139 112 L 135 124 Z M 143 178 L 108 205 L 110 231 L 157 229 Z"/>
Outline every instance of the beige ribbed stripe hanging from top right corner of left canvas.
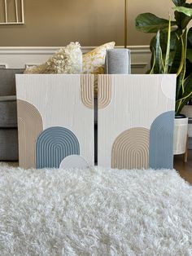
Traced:
<path fill-rule="evenodd" d="M 81 75 L 81 100 L 87 108 L 94 108 L 94 75 Z"/>

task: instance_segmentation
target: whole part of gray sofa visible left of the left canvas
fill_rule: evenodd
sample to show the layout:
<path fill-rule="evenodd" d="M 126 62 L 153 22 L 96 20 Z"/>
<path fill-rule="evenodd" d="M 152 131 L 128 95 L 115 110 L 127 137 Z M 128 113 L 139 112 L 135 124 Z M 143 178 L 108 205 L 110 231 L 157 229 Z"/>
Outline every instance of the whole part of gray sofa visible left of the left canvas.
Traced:
<path fill-rule="evenodd" d="M 0 161 L 18 161 L 15 73 L 24 69 L 0 69 Z"/>

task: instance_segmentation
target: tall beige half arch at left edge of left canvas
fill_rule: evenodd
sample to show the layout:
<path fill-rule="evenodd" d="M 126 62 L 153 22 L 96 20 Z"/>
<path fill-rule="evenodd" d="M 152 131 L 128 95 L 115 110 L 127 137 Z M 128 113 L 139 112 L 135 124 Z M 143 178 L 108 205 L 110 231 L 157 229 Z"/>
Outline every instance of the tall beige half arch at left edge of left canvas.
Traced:
<path fill-rule="evenodd" d="M 19 159 L 24 169 L 36 167 L 36 140 L 43 130 L 41 114 L 33 104 L 17 100 Z"/>

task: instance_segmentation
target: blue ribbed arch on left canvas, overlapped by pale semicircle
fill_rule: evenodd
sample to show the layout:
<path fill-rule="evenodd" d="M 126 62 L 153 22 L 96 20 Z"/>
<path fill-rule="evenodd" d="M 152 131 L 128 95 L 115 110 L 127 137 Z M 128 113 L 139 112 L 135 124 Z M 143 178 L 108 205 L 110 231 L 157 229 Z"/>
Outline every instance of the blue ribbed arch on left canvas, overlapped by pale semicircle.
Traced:
<path fill-rule="evenodd" d="M 67 128 L 54 126 L 43 130 L 36 143 L 36 166 L 59 168 L 63 158 L 80 154 L 80 144 L 76 135 Z"/>

